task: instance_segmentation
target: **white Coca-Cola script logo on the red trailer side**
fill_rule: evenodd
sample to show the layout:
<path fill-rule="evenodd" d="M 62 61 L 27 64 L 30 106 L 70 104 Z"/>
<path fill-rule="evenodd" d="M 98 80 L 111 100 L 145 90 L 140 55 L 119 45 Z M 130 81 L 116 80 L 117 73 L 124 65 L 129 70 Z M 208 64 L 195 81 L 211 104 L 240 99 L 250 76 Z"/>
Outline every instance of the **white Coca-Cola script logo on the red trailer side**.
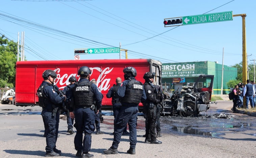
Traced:
<path fill-rule="evenodd" d="M 97 87 L 102 90 L 102 91 L 106 91 L 109 89 L 109 82 L 111 80 L 111 76 L 107 76 L 107 74 L 109 74 L 113 68 L 105 68 L 105 69 L 101 69 L 99 67 L 94 67 L 94 68 L 90 68 L 90 70 L 92 71 L 92 74 L 90 76 L 90 80 L 95 79 L 97 82 Z M 64 87 L 66 87 L 67 85 L 69 85 L 69 78 L 71 76 L 75 76 L 75 77 L 79 77 L 79 75 L 77 73 L 74 74 L 69 74 L 67 72 L 65 72 L 65 70 L 62 70 L 61 68 L 57 68 L 54 70 L 57 74 L 57 78 L 55 80 L 55 84 L 59 87 L 59 89 L 63 89 Z M 80 79 L 80 77 L 78 78 L 78 80 Z"/>

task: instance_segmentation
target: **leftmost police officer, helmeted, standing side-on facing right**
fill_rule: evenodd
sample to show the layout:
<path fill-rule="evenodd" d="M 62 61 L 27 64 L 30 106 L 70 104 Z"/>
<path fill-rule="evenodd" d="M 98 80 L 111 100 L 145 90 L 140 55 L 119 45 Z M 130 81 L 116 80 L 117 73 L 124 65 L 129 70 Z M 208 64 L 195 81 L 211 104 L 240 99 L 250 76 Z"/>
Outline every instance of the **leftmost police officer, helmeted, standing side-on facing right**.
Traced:
<path fill-rule="evenodd" d="M 46 134 L 46 157 L 60 156 L 61 151 L 56 149 L 56 141 L 59 128 L 59 109 L 66 101 L 66 95 L 59 95 L 59 88 L 54 84 L 57 77 L 53 70 L 45 70 L 42 77 L 44 81 L 40 85 L 43 97 L 42 117 Z M 39 98 L 41 99 L 41 98 Z"/>

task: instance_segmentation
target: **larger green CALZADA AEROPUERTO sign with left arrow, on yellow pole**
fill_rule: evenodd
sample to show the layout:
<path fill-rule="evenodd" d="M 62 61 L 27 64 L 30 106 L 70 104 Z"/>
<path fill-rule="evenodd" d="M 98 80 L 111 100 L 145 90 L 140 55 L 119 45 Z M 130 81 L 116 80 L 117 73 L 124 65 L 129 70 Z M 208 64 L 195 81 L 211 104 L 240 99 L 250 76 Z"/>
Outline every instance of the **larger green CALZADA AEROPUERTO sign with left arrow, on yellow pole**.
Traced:
<path fill-rule="evenodd" d="M 182 25 L 223 22 L 223 21 L 231 21 L 231 20 L 233 20 L 232 11 L 225 11 L 225 12 L 211 13 L 211 14 L 183 16 Z"/>

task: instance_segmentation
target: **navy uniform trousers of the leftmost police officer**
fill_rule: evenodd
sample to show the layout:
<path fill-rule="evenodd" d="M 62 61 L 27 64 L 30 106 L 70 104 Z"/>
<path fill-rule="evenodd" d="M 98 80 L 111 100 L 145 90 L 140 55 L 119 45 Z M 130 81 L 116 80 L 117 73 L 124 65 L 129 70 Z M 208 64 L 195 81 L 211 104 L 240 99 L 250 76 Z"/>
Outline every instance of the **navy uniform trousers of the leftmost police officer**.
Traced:
<path fill-rule="evenodd" d="M 56 148 L 56 141 L 58 138 L 58 129 L 59 129 L 59 110 L 56 112 L 55 116 L 52 116 L 52 112 L 47 110 L 42 111 L 42 117 L 45 126 L 45 135 L 46 135 L 46 147 L 45 150 L 47 153 L 53 151 Z"/>

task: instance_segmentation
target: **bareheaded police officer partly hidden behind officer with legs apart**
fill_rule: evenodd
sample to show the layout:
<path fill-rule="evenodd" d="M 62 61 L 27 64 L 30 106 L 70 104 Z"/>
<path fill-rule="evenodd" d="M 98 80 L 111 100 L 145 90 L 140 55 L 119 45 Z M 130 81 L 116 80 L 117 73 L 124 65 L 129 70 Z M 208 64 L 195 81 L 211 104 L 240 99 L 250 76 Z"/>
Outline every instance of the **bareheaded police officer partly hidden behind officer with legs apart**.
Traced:
<path fill-rule="evenodd" d="M 120 107 L 121 107 L 121 102 L 119 101 L 119 95 L 117 93 L 118 88 L 120 87 L 122 83 L 122 79 L 120 77 L 116 78 L 116 84 L 114 84 L 107 92 L 107 98 L 111 98 L 112 97 L 112 108 L 113 108 L 113 115 L 114 115 L 114 127 L 116 124 L 116 118 L 117 115 L 119 113 Z M 113 132 L 114 134 L 114 132 Z M 130 133 L 127 132 L 127 125 L 124 128 L 124 131 L 122 133 L 122 135 L 129 135 Z"/>

